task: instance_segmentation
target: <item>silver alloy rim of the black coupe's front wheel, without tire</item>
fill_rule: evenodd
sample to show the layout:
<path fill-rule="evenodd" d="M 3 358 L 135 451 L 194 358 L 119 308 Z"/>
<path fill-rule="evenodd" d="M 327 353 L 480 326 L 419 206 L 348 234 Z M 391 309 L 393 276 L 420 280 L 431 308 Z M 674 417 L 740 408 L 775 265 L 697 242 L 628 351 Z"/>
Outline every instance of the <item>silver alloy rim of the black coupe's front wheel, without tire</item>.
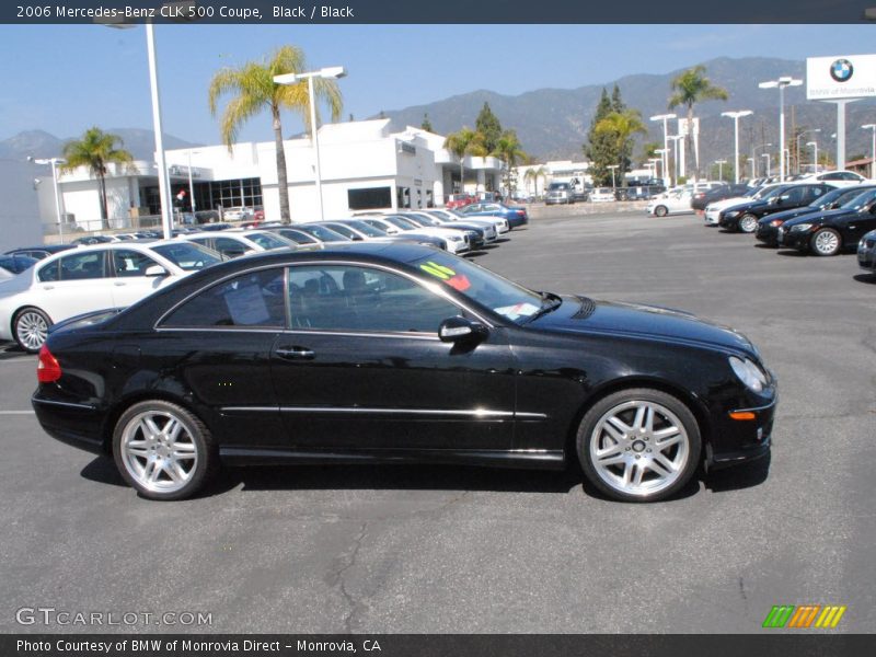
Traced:
<path fill-rule="evenodd" d="M 669 408 L 633 400 L 609 410 L 589 440 L 590 460 L 611 488 L 650 497 L 671 486 L 688 464 L 690 438 Z"/>

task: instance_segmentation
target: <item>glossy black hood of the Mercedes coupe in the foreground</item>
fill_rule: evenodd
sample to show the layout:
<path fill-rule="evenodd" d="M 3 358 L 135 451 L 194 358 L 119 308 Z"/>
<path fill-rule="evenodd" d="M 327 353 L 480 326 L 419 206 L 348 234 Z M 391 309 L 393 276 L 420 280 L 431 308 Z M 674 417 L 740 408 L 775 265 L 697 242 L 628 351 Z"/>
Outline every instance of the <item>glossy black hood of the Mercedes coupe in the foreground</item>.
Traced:
<path fill-rule="evenodd" d="M 531 325 L 548 331 L 652 338 L 758 355 L 749 339 L 733 328 L 656 306 L 564 296 L 560 308 L 538 318 Z"/>

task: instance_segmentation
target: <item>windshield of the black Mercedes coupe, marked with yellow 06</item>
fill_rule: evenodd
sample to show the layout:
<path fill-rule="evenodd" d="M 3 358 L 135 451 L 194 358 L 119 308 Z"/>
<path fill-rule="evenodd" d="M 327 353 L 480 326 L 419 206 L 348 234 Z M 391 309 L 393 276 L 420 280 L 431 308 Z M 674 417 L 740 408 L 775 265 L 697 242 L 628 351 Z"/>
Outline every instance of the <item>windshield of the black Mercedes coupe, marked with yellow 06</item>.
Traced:
<path fill-rule="evenodd" d="M 436 280 L 518 324 L 539 313 L 543 307 L 544 299 L 538 292 L 454 255 L 431 253 L 412 264 Z"/>

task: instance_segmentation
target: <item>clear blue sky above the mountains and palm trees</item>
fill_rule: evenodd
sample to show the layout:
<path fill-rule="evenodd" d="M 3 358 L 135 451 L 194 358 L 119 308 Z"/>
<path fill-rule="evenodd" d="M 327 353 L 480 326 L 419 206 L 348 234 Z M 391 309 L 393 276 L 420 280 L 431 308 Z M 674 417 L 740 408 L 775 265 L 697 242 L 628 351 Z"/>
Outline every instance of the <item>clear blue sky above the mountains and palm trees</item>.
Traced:
<path fill-rule="evenodd" d="M 284 44 L 312 67 L 345 66 L 344 118 L 476 89 L 519 94 L 633 73 L 666 73 L 718 56 L 874 51 L 874 25 L 159 25 L 164 130 L 218 143 L 207 85 L 223 66 L 261 59 Z M 0 139 L 44 129 L 78 136 L 97 125 L 151 128 L 146 32 L 91 25 L 0 26 Z M 284 117 L 287 134 L 301 128 Z M 242 140 L 270 139 L 267 115 Z"/>

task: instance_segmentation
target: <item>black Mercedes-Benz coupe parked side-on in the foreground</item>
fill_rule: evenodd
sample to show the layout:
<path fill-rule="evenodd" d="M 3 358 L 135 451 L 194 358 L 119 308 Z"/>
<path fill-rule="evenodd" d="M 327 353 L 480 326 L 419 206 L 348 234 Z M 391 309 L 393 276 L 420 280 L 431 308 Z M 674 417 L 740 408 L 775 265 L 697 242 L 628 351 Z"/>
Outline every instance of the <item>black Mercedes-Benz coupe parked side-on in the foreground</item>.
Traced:
<path fill-rule="evenodd" d="M 33 405 L 153 499 L 222 463 L 564 468 L 657 500 L 770 450 L 775 381 L 691 314 L 537 292 L 428 246 L 243 256 L 58 324 Z"/>

